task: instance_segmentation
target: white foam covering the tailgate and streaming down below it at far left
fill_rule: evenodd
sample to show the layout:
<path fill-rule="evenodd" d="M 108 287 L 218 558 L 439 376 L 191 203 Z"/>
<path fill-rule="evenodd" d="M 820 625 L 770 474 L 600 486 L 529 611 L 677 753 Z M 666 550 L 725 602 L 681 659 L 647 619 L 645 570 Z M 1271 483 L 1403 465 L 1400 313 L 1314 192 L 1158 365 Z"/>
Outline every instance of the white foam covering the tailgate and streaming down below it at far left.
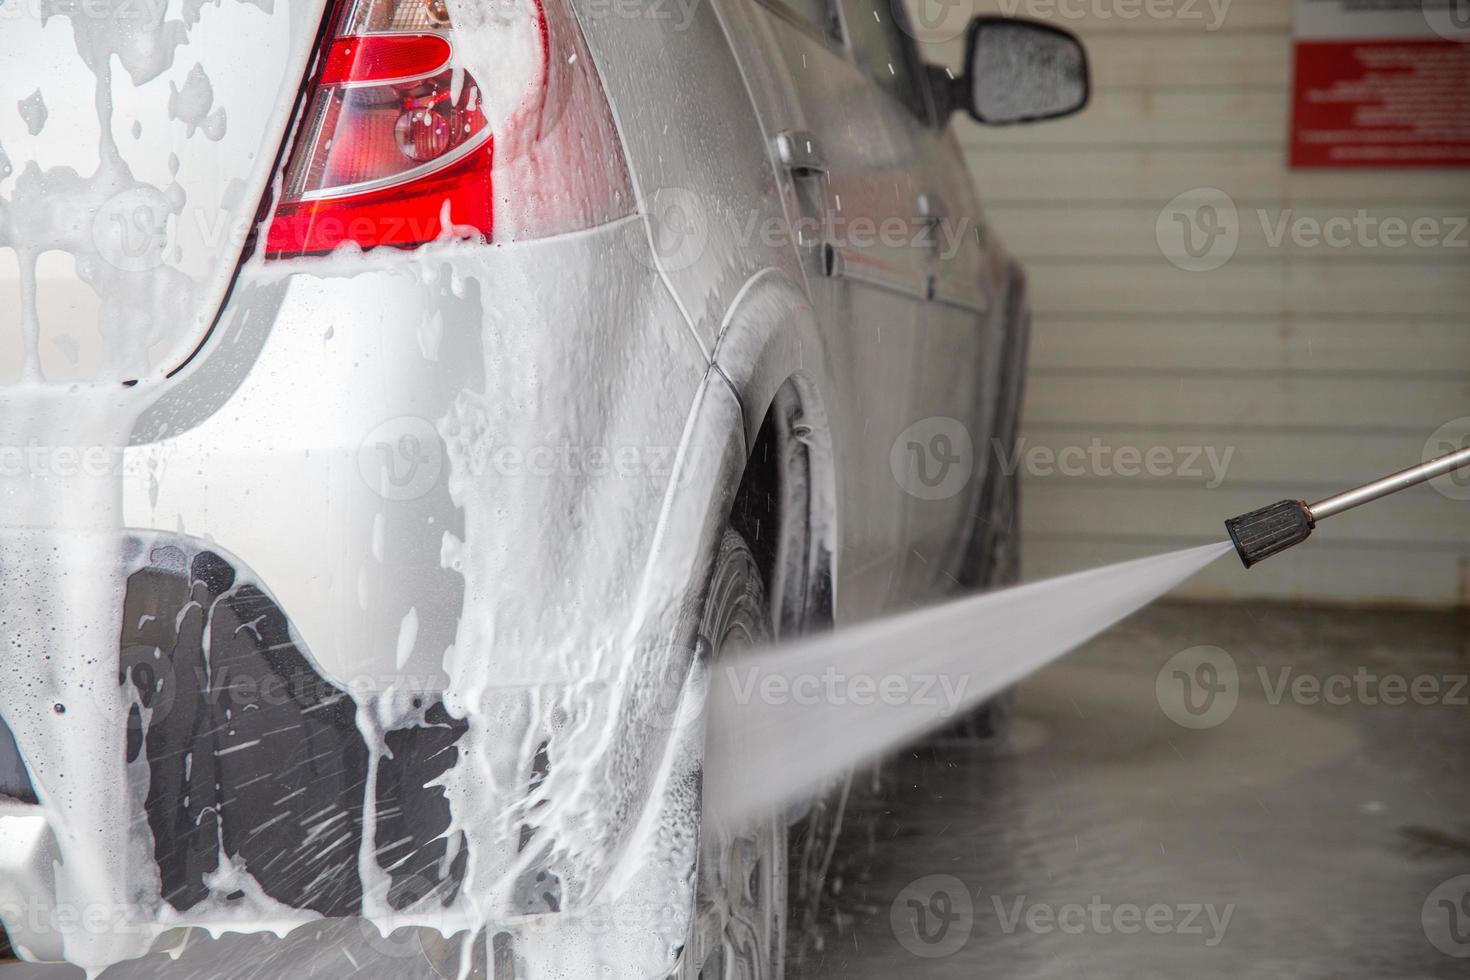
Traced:
<path fill-rule="evenodd" d="M 178 153 L 166 154 L 166 145 L 134 144 L 129 151 L 148 159 L 137 165 L 118 145 L 119 107 L 126 109 L 123 118 L 173 109 L 190 132 L 198 128 L 210 141 L 225 137 L 225 112 L 210 112 L 213 93 L 201 69 L 176 90 L 171 106 L 163 104 L 168 85 L 148 85 L 188 50 L 201 19 L 197 4 L 185 4 L 182 19 L 169 19 L 165 6 L 103 0 L 85 9 L 47 7 L 44 18 L 41 7 L 26 7 L 37 16 L 21 10 L 4 26 L 4 40 L 24 48 L 7 53 L 7 72 L 44 65 L 57 73 L 46 79 L 47 96 L 37 90 L 19 103 L 25 132 L 7 132 L 15 163 L 0 163 L 0 181 L 15 178 L 0 188 L 0 250 L 10 250 L 3 259 L 16 263 L 19 307 L 18 336 L 6 336 L 0 359 L 6 361 L 0 447 L 7 450 L 0 472 L 0 619 L 7 642 L 0 704 L 7 707 L 6 721 L 59 855 L 51 868 L 54 893 L 26 895 L 22 908 L 51 920 L 60 954 L 88 974 L 147 952 L 173 924 L 159 895 L 151 835 L 140 818 L 146 763 L 125 764 L 126 717 L 141 705 L 118 676 L 125 579 L 121 458 L 134 423 L 166 388 L 165 375 L 212 320 L 213 310 L 203 309 L 210 292 L 222 292 L 234 270 L 240 242 L 229 237 L 229 209 L 254 210 L 254 200 L 240 198 L 207 213 L 219 219 L 220 234 L 201 238 L 206 229 L 179 225 L 185 201 L 179 170 L 193 162 L 215 175 L 218 160 L 184 153 L 181 162 Z M 293 6 L 272 24 L 295 19 L 298 29 L 287 34 L 300 40 L 293 40 L 288 57 L 304 63 L 315 37 L 307 21 L 319 16 L 319 6 Z M 254 16 L 263 24 L 270 13 Z M 68 44 L 75 57 L 65 57 Z M 75 116 L 78 106 L 96 113 L 96 138 L 90 126 L 76 128 L 85 122 Z M 288 106 L 269 107 L 276 118 L 285 112 Z M 269 128 L 268 118 L 257 123 Z M 131 131 L 137 141 L 137 119 Z M 272 159 L 256 151 L 229 157 L 237 178 L 215 190 L 228 195 L 237 184 L 263 187 Z M 143 247 L 134 247 L 129 235 Z M 185 254 L 179 245 L 185 239 L 209 247 Z M 60 375 L 50 373 L 43 359 L 49 319 L 37 289 L 43 259 L 68 263 L 76 282 L 69 300 L 97 311 L 96 335 L 78 314 L 65 322 L 66 329 L 79 325 L 75 335 L 50 338 L 63 354 L 53 361 L 65 366 Z M 82 301 L 85 292 L 91 295 Z M 16 466 L 16 458 L 24 463 Z M 245 877 L 223 860 L 207 884 L 216 896 L 244 895 L 231 902 L 229 917 L 248 921 L 248 929 L 284 933 L 310 917 L 273 905 Z M 76 917 L 69 926 L 66 914 Z"/>

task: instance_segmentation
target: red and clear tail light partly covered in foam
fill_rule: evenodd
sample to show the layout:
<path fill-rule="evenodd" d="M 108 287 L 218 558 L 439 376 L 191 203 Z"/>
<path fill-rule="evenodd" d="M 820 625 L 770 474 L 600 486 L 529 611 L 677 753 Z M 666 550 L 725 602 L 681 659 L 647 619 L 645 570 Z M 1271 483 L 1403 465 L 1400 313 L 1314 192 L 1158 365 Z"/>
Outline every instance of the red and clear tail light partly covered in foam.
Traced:
<path fill-rule="evenodd" d="M 268 257 L 445 234 L 507 241 L 631 210 L 622 148 L 566 0 L 497 4 L 492 22 L 462 25 L 451 22 L 457 9 L 334 4 Z M 576 147 L 588 144 L 604 150 L 600 166 L 575 170 L 585 153 Z"/>

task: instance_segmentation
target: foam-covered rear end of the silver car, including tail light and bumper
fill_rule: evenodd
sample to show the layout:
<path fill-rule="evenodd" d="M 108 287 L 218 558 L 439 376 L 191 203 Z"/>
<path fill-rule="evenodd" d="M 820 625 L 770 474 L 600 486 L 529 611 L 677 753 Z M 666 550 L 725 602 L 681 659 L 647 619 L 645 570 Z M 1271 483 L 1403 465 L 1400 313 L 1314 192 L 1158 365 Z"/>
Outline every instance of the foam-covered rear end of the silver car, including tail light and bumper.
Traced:
<path fill-rule="evenodd" d="M 707 359 L 572 9 L 109 0 L 0 50 L 13 949 L 672 962 L 692 736 L 625 658 L 691 669 L 632 595 Z"/>

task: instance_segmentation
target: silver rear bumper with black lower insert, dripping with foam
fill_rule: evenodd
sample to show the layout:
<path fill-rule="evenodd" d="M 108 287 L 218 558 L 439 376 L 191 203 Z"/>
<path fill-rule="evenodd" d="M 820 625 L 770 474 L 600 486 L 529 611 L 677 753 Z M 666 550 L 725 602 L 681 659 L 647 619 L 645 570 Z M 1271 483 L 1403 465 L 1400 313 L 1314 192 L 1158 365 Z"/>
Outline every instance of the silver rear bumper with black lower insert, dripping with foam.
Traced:
<path fill-rule="evenodd" d="M 606 948 L 628 976 L 672 962 L 698 820 L 698 726 L 673 718 L 701 535 L 669 544 L 659 516 L 684 467 L 711 472 L 681 455 L 707 359 L 638 220 L 247 269 L 134 426 L 134 530 L 98 591 L 121 594 L 119 660 L 97 676 L 125 717 L 87 748 L 122 785 L 68 814 L 122 829 L 128 880 L 93 904 L 122 905 L 106 929 L 135 933 L 129 955 L 182 926 L 315 923 L 220 940 L 300 952 L 337 930 L 319 920 L 366 917 L 429 937 L 415 949 L 488 926 L 504 955 L 572 956 L 572 974 Z M 650 676 L 676 685 L 672 711 Z M 38 959 L 78 929 L 57 921 L 56 815 L 0 814 L 0 918 Z"/>

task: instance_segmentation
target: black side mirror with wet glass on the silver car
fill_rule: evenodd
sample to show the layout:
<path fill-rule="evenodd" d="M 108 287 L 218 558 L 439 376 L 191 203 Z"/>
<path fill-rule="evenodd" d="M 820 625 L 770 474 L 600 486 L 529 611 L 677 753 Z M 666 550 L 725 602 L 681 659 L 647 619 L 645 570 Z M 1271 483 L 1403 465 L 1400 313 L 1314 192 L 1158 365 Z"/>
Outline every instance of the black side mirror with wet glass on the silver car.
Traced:
<path fill-rule="evenodd" d="M 1080 112 L 1091 96 L 1088 54 L 1069 31 L 1016 18 L 970 21 L 964 76 L 942 78 L 945 113 L 964 109 L 978 122 L 1004 126 Z"/>

